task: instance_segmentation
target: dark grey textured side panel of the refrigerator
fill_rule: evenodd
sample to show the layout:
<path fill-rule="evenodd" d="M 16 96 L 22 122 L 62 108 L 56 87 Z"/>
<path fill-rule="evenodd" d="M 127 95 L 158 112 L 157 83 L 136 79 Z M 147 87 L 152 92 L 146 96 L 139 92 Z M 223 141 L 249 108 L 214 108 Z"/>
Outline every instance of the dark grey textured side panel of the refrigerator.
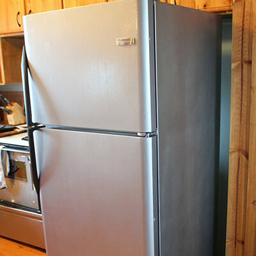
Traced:
<path fill-rule="evenodd" d="M 211 256 L 221 19 L 156 3 L 161 256 Z"/>

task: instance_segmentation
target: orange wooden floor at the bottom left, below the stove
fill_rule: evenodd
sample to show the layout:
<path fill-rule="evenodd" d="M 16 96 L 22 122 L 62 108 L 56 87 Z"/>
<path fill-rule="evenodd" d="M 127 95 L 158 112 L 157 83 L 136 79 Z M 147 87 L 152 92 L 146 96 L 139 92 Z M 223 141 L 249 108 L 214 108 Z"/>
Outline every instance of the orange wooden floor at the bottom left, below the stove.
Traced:
<path fill-rule="evenodd" d="M 0 236 L 0 256 L 46 256 L 42 249 Z"/>

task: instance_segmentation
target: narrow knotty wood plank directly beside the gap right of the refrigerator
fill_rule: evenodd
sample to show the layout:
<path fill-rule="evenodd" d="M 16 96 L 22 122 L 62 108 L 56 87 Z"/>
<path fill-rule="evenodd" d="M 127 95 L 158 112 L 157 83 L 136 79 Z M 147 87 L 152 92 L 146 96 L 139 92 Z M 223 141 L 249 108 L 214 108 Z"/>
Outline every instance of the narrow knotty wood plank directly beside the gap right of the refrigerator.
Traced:
<path fill-rule="evenodd" d="M 230 108 L 230 154 L 228 175 L 228 210 L 227 210 L 227 241 L 226 255 L 235 255 L 236 252 L 236 211 L 237 211 L 237 182 L 239 174 L 239 138 L 241 130 L 241 98 L 242 72 L 241 54 L 243 40 L 243 10 L 244 1 L 234 3 L 233 20 L 239 26 L 232 27 L 232 88 Z M 234 44 L 236 42 L 236 45 Z"/>

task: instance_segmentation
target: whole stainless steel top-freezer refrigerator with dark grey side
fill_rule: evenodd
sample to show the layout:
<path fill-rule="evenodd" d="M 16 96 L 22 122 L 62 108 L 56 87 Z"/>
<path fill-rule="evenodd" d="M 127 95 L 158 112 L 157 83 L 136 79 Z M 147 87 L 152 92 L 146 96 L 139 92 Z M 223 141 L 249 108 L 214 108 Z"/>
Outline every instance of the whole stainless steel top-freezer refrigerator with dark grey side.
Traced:
<path fill-rule="evenodd" d="M 24 17 L 47 256 L 209 256 L 221 20 L 152 0 Z"/>

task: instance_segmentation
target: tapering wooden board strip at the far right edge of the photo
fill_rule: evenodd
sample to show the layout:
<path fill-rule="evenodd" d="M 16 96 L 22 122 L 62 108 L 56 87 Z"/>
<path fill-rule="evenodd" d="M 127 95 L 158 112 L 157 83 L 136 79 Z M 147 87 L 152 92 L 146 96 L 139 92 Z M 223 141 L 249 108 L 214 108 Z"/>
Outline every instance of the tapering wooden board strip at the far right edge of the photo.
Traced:
<path fill-rule="evenodd" d="M 256 12 L 256 10 L 255 10 Z M 256 22 L 255 22 L 256 24 Z M 256 31 L 256 29 L 254 30 Z M 253 35 L 250 145 L 244 255 L 256 255 L 256 33 Z"/>

